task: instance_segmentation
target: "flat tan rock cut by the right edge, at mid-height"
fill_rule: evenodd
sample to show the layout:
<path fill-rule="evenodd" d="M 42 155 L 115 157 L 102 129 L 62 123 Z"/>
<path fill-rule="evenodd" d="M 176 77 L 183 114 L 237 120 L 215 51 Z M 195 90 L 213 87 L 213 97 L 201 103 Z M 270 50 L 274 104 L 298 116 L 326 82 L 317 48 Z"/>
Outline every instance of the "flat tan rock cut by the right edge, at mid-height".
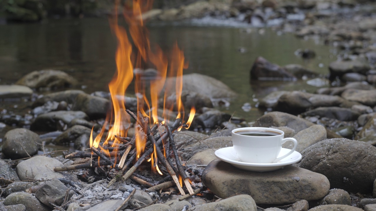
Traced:
<path fill-rule="evenodd" d="M 376 89 L 347 89 L 342 93 L 341 96 L 350 101 L 360 102 L 363 105 L 368 105 L 371 107 L 374 107 L 376 105 Z"/>

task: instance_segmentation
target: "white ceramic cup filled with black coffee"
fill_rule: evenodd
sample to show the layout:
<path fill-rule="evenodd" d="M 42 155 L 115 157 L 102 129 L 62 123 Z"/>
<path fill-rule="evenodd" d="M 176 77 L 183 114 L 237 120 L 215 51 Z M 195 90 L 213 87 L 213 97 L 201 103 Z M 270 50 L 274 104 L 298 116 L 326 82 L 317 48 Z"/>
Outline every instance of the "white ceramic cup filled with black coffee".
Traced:
<path fill-rule="evenodd" d="M 273 136 L 246 136 L 242 133 L 268 133 Z M 238 128 L 232 130 L 232 144 L 242 162 L 275 163 L 293 153 L 298 145 L 296 139 L 284 139 L 284 135 L 284 131 L 274 128 Z M 287 141 L 293 141 L 294 148 L 287 154 L 277 157 L 282 149 L 282 144 Z"/>

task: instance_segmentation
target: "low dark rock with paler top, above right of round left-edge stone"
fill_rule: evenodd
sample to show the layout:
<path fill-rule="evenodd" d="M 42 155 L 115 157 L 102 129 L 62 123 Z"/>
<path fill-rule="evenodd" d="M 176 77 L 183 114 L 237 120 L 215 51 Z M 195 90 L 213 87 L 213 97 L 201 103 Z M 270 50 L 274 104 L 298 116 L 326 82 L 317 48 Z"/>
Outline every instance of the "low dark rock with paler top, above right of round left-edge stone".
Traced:
<path fill-rule="evenodd" d="M 81 111 L 56 111 L 39 115 L 31 124 L 31 130 L 54 131 L 61 127 L 59 121 L 69 125 L 73 119 L 88 119 L 88 115 Z"/>

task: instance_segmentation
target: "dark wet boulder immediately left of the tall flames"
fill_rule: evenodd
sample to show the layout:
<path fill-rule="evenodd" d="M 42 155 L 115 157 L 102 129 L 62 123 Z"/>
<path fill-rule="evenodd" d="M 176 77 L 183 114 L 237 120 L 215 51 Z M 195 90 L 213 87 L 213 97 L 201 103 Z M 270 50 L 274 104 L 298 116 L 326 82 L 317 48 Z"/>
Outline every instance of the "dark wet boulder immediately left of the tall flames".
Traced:
<path fill-rule="evenodd" d="M 88 94 L 78 94 L 73 106 L 73 111 L 85 112 L 90 119 L 106 118 L 110 101 L 106 98 L 91 96 Z"/>

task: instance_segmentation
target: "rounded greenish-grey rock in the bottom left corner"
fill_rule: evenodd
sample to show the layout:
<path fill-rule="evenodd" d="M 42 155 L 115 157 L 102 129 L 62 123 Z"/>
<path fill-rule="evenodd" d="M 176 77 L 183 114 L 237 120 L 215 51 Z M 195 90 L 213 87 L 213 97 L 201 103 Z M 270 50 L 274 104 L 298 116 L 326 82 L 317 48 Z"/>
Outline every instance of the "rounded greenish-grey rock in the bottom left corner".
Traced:
<path fill-rule="evenodd" d="M 50 211 L 48 206 L 45 206 L 38 199 L 30 193 L 17 192 L 12 193 L 3 201 L 5 206 L 23 204 L 26 207 L 26 211 Z"/>

